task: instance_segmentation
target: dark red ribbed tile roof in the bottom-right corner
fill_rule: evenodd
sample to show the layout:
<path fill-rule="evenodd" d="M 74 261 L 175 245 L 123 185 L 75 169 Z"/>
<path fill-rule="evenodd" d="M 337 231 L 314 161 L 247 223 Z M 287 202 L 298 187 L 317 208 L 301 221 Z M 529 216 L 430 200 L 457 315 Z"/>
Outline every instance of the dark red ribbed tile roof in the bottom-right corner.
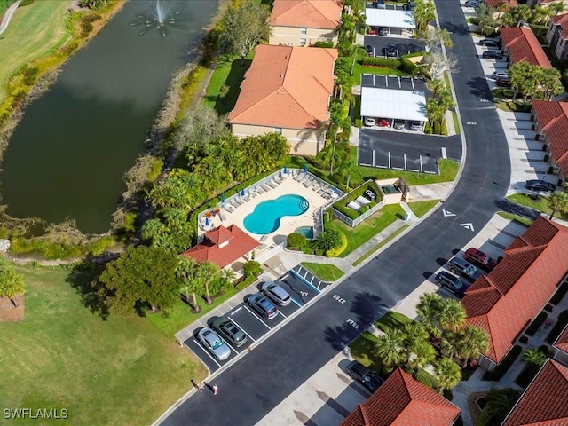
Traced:
<path fill-rule="evenodd" d="M 502 426 L 568 426 L 568 368 L 548 359 Z"/>

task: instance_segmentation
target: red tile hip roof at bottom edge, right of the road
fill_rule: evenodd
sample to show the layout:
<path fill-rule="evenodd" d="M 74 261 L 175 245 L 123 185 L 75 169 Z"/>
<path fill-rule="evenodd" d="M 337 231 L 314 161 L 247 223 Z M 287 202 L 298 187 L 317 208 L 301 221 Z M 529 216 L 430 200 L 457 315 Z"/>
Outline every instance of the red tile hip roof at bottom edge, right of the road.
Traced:
<path fill-rule="evenodd" d="M 460 412 L 446 398 L 398 368 L 341 426 L 450 426 Z"/>

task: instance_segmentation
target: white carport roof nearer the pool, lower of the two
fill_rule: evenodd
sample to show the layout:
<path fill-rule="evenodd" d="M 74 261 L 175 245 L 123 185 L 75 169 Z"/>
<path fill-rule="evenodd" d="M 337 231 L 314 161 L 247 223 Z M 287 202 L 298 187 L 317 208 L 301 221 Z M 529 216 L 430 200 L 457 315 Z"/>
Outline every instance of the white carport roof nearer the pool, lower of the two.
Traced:
<path fill-rule="evenodd" d="M 377 87 L 361 87 L 361 117 L 384 118 L 390 121 L 390 127 L 395 120 L 424 122 L 426 115 L 426 93 L 423 91 L 401 91 Z"/>

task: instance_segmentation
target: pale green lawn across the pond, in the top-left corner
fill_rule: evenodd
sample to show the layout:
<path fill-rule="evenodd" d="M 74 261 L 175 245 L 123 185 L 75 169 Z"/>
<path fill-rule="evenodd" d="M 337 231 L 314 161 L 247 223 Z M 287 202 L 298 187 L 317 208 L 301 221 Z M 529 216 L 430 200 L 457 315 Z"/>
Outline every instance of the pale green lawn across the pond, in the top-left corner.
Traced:
<path fill-rule="evenodd" d="M 10 25 L 0 36 L 1 86 L 14 71 L 65 42 L 70 35 L 64 22 L 68 5 L 63 1 L 36 1 L 16 10 Z M 0 102 L 4 96 L 4 89 L 0 88 Z"/>

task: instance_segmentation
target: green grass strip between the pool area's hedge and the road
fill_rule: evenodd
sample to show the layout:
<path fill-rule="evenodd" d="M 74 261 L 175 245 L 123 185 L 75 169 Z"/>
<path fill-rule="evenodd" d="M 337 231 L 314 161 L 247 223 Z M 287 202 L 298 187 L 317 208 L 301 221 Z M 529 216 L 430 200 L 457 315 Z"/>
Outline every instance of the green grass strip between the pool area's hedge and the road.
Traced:
<path fill-rule="evenodd" d="M 345 225 L 341 220 L 335 219 L 334 224 L 347 236 L 347 248 L 345 248 L 340 257 L 349 256 L 361 244 L 364 244 L 377 233 L 383 231 L 388 225 L 404 217 L 405 212 L 398 204 L 390 204 L 384 206 L 375 215 L 367 218 L 362 224 L 354 228 Z"/>

